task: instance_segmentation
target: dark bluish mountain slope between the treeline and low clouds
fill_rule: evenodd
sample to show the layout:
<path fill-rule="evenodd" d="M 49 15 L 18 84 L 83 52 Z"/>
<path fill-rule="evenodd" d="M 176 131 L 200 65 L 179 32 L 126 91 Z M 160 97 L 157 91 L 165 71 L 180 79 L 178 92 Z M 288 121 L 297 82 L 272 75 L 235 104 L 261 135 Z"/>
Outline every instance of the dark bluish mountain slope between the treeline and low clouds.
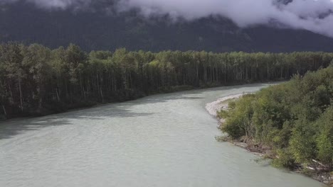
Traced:
<path fill-rule="evenodd" d="M 206 50 L 213 52 L 332 51 L 333 39 L 307 30 L 270 26 L 238 28 L 227 18 L 196 21 L 143 18 L 136 11 L 114 13 L 44 10 L 17 1 L 0 4 L 0 42 L 38 42 L 48 47 L 73 42 L 84 50 Z"/>

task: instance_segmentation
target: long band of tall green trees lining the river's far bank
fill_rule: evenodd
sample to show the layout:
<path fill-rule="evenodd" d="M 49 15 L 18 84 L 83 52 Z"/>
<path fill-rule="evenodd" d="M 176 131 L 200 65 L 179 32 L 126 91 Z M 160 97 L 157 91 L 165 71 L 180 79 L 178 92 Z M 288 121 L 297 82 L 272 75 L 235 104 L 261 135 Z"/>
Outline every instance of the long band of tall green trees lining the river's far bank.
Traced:
<path fill-rule="evenodd" d="M 7 42 L 0 45 L 0 118 L 184 89 L 288 80 L 328 67 L 332 60 L 327 52 L 85 52 L 73 44 L 51 50 Z"/>

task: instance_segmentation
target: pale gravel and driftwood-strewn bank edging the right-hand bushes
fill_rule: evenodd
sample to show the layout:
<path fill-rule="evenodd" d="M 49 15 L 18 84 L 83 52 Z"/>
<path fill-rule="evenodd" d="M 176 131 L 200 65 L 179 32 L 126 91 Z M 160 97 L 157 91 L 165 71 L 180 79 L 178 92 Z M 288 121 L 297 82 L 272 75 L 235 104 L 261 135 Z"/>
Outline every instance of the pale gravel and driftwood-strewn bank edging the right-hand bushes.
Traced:
<path fill-rule="evenodd" d="M 206 111 L 210 115 L 213 115 L 214 117 L 218 118 L 218 128 L 221 129 L 221 126 L 223 123 L 226 122 L 226 119 L 220 118 L 218 116 L 218 111 L 226 111 L 228 110 L 228 103 L 230 101 L 235 101 L 245 94 L 251 94 L 251 93 L 243 93 L 243 94 L 234 94 L 230 96 L 225 96 L 223 98 L 218 98 L 218 100 L 213 101 L 211 103 L 206 104 Z M 273 151 L 272 147 L 269 147 L 267 145 L 260 144 L 258 142 L 255 142 L 255 140 L 252 140 L 249 137 L 240 137 L 236 140 L 231 139 L 228 137 L 228 135 L 223 135 L 221 137 L 216 137 L 216 140 L 219 142 L 231 142 L 233 145 L 236 145 L 237 147 L 241 147 L 243 149 L 248 150 L 248 152 L 251 152 L 253 154 L 256 154 L 260 157 L 263 157 L 263 159 L 276 159 L 277 154 Z M 317 164 L 317 166 L 322 165 L 320 162 L 317 162 L 316 160 L 313 160 L 314 164 Z M 322 165 L 324 166 L 324 165 Z M 304 169 L 305 168 L 305 169 Z M 329 174 L 324 171 L 317 171 L 317 169 L 314 169 L 316 167 L 312 166 L 295 166 L 295 168 L 291 169 L 294 172 L 304 174 L 306 176 L 310 176 L 312 179 L 322 182 L 325 185 L 333 186 L 333 176 L 332 174 Z"/>

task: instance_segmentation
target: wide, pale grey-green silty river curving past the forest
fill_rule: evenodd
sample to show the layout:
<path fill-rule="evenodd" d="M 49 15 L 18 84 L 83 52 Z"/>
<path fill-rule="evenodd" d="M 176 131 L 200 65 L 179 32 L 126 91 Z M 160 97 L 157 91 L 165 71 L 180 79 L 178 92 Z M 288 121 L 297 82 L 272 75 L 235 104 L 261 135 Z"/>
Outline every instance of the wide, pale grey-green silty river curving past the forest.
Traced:
<path fill-rule="evenodd" d="M 148 96 L 0 123 L 0 186 L 318 187 L 228 142 L 205 104 L 268 84 Z"/>

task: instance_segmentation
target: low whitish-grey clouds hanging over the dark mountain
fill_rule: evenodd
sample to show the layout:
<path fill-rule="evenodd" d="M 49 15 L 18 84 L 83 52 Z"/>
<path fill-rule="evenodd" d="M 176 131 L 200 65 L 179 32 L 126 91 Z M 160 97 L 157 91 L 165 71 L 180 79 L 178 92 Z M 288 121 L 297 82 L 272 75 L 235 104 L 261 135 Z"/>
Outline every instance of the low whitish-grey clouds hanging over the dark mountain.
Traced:
<path fill-rule="evenodd" d="M 9 4 L 18 0 L 0 0 Z M 87 7 L 92 1 L 115 0 L 21 0 L 39 8 Z M 117 11 L 137 8 L 142 16 L 164 16 L 193 21 L 206 16 L 224 16 L 240 27 L 281 23 L 288 28 L 305 29 L 333 38 L 333 0 L 116 0 Z"/>

